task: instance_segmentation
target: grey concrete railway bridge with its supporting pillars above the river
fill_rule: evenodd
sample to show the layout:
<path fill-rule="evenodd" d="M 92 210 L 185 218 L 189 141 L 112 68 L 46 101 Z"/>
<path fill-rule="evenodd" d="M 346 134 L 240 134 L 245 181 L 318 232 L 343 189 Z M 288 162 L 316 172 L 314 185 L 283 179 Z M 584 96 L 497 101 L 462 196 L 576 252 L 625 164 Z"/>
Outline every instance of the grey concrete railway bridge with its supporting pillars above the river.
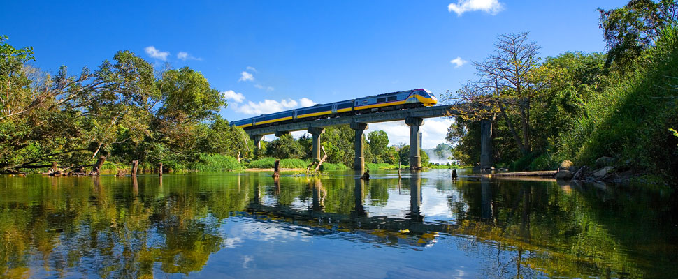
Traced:
<path fill-rule="evenodd" d="M 261 139 L 264 138 L 264 135 L 274 134 L 276 137 L 280 137 L 294 131 L 306 130 L 313 136 L 313 159 L 319 161 L 320 136 L 325 132 L 325 128 L 348 124 L 356 133 L 354 141 L 356 152 L 354 169 L 363 170 L 365 169 L 363 136 L 365 130 L 368 128 L 368 124 L 404 120 L 407 126 L 410 126 L 410 168 L 419 168 L 421 167 L 421 138 L 419 137 L 419 128 L 424 125 L 424 119 L 450 115 L 459 115 L 459 110 L 456 110 L 454 105 L 438 105 L 434 107 L 372 112 L 351 116 L 337 116 L 325 119 L 283 123 L 266 127 L 245 128 L 245 132 L 247 135 L 250 135 L 250 138 L 254 140 L 254 146 L 257 146 L 257 149 L 259 149 L 261 147 Z M 489 120 L 482 120 L 480 126 L 480 167 L 489 168 L 492 166 L 492 123 Z"/>

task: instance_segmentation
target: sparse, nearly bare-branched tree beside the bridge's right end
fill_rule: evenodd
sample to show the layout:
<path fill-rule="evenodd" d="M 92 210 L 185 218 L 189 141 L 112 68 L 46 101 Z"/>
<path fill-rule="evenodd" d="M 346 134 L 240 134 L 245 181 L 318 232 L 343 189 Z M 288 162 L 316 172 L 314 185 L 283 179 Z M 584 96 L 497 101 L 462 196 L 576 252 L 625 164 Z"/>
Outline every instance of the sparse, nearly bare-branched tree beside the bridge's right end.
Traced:
<path fill-rule="evenodd" d="M 540 46 L 528 39 L 528 32 L 498 36 L 494 54 L 485 61 L 474 62 L 476 81 L 470 81 L 456 92 L 456 99 L 465 105 L 461 117 L 479 120 L 499 115 L 507 123 L 523 153 L 532 151 L 531 107 L 547 80 L 538 67 Z M 510 114 L 516 114 L 519 134 Z"/>

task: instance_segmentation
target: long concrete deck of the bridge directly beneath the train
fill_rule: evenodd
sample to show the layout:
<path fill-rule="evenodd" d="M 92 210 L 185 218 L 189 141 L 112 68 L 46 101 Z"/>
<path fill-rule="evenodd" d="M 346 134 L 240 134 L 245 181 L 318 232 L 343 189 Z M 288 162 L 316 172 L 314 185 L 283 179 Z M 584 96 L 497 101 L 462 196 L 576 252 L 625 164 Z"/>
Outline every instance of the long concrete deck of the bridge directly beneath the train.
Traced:
<path fill-rule="evenodd" d="M 408 117 L 431 118 L 459 114 L 452 105 L 438 105 L 435 107 L 419 107 L 409 110 L 392 110 L 388 112 L 374 112 L 369 114 L 358 114 L 352 116 L 338 116 L 326 119 L 315 119 L 296 123 L 287 123 L 282 125 L 245 128 L 245 132 L 250 135 L 268 135 L 275 132 L 294 132 L 297 130 L 307 130 L 308 128 L 324 128 L 330 126 L 346 125 L 349 123 L 378 123 L 388 121 L 405 120 Z"/>

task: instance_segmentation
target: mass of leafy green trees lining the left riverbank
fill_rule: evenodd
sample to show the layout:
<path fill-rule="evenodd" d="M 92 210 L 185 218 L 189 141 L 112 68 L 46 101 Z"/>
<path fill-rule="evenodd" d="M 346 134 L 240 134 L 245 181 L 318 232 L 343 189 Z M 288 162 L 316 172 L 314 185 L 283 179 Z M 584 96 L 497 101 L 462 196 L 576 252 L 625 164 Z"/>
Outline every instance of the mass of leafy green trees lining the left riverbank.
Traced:
<path fill-rule="evenodd" d="M 52 76 L 24 64 L 34 60 L 30 47 L 5 41 L 0 37 L 0 89 L 7 96 L 0 98 L 0 172 L 52 161 L 87 166 L 101 155 L 150 169 L 216 160 L 205 153 L 252 156 L 244 131 L 217 116 L 226 100 L 199 72 L 169 69 L 156 78 L 150 63 L 124 51 L 96 70 L 71 75 L 62 66 Z"/>

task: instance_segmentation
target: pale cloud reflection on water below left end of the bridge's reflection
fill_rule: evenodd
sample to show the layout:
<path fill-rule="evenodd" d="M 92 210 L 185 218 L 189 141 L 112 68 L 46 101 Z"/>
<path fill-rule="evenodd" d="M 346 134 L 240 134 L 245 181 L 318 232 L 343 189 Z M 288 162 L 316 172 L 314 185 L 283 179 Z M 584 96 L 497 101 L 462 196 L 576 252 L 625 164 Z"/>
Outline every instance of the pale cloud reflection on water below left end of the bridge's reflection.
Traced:
<path fill-rule="evenodd" d="M 285 242 L 294 239 L 295 241 L 309 241 L 311 235 L 305 232 L 298 232 L 294 227 L 288 224 L 261 223 L 257 220 L 247 220 L 240 223 L 238 229 L 233 229 L 228 234 L 228 238 L 238 239 L 239 241 L 279 241 Z"/>

